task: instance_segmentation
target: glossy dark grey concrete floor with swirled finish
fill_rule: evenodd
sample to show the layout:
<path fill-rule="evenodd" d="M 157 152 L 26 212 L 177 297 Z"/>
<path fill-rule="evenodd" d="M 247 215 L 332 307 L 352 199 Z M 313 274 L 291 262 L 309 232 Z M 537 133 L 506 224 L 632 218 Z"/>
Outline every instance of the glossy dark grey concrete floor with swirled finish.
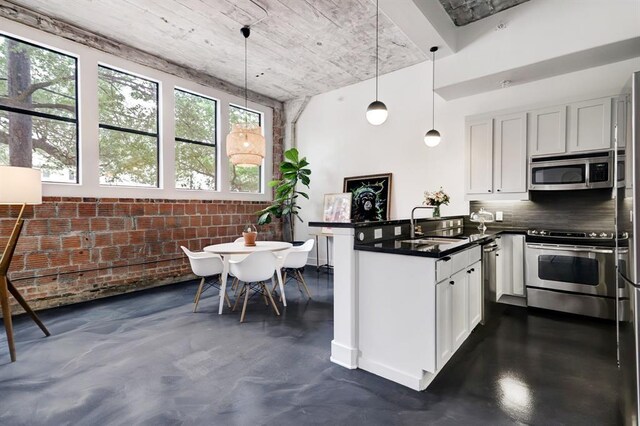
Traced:
<path fill-rule="evenodd" d="M 509 308 L 425 392 L 329 362 L 331 275 L 306 273 L 282 317 L 254 299 L 216 314 L 196 284 L 16 318 L 0 328 L 1 425 L 619 424 L 612 323 Z"/>

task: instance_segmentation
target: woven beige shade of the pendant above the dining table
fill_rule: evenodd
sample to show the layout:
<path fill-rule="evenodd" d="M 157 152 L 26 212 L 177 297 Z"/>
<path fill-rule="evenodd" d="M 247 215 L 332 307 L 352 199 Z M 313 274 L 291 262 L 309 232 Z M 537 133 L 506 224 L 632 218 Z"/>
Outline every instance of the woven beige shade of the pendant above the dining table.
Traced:
<path fill-rule="evenodd" d="M 227 135 L 227 157 L 235 165 L 260 166 L 264 159 L 265 145 L 260 126 L 234 124 Z"/>

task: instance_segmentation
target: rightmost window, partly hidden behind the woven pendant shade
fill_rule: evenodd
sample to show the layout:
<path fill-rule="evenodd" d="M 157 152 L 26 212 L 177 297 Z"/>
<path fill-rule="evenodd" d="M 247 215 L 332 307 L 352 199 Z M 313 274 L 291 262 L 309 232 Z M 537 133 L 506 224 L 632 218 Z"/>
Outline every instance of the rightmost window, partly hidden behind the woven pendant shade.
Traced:
<path fill-rule="evenodd" d="M 262 126 L 262 115 L 235 105 L 229 105 L 229 124 L 244 123 Z M 231 192 L 259 193 L 262 189 L 262 167 L 234 165 L 229 161 L 229 189 Z"/>

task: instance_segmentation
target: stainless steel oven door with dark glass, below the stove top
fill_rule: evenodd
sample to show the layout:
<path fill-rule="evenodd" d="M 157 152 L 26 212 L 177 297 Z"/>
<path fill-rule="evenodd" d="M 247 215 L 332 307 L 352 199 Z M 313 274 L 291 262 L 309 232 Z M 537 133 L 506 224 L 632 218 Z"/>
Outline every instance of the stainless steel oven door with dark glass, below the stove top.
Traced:
<path fill-rule="evenodd" d="M 528 243 L 526 285 L 615 297 L 615 250 L 607 247 Z"/>

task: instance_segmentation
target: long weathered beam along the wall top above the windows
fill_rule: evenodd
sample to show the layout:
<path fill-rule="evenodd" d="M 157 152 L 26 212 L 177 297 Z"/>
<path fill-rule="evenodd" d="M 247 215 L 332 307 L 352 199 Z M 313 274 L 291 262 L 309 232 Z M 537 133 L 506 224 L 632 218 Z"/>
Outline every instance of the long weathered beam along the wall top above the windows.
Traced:
<path fill-rule="evenodd" d="M 109 53 L 122 59 L 137 64 L 166 72 L 195 83 L 221 90 L 240 98 L 244 98 L 244 88 L 236 86 L 215 76 L 175 64 L 166 59 L 149 54 L 126 44 L 122 44 L 83 28 L 71 25 L 62 20 L 35 12 L 25 7 L 16 5 L 6 0 L 0 0 L 0 17 L 10 19 L 29 27 L 53 34 L 73 42 L 89 46 L 91 48 Z M 252 102 L 281 110 L 282 102 L 271 97 L 248 92 L 248 98 Z"/>

